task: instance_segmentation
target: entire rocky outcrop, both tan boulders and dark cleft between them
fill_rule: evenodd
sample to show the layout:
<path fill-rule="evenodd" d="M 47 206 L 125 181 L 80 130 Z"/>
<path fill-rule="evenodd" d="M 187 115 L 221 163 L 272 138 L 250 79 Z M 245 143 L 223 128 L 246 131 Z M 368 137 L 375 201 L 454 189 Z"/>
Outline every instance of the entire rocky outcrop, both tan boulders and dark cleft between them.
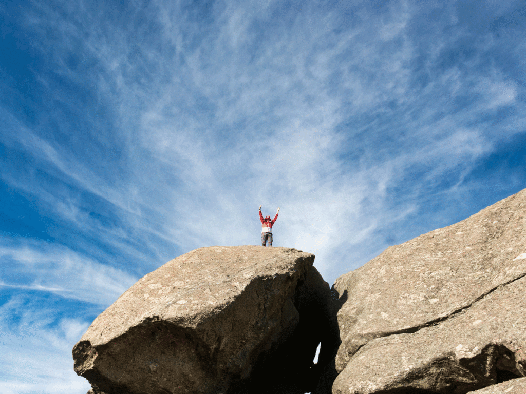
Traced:
<path fill-rule="evenodd" d="M 262 246 L 177 257 L 95 319 L 75 371 L 89 394 L 526 392 L 526 190 L 332 289 L 313 260 Z"/>

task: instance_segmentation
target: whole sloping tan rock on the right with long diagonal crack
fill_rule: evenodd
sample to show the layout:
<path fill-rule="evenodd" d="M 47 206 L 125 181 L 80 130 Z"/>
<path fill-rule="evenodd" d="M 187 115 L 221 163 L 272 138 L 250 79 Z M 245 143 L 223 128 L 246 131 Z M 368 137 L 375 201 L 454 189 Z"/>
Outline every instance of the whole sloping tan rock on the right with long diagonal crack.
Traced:
<path fill-rule="evenodd" d="M 525 276 L 523 190 L 339 277 L 333 394 L 526 392 Z"/>

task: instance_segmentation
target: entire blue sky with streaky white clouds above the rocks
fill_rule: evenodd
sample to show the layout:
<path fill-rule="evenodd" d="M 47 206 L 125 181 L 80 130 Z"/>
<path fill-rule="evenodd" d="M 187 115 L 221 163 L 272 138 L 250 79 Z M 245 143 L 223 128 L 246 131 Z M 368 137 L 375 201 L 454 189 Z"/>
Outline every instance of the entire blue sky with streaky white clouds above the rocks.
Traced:
<path fill-rule="evenodd" d="M 70 350 L 210 245 L 329 284 L 526 187 L 521 1 L 0 4 L 0 392 L 84 394 Z"/>

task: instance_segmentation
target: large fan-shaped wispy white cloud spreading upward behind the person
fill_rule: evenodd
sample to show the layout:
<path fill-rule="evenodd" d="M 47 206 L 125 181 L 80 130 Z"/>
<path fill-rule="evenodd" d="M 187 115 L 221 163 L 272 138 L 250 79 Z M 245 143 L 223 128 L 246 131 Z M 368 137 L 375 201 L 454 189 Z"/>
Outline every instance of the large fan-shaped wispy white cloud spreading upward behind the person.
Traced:
<path fill-rule="evenodd" d="M 216 3 L 197 15 L 158 3 L 143 9 L 148 20 L 136 12 L 112 23 L 97 20 L 94 9 L 63 20 L 43 6 L 36 25 L 44 28 L 52 15 L 61 32 L 54 64 L 75 83 L 88 70 L 120 119 L 115 132 L 129 167 L 110 184 L 114 178 L 85 167 L 85 156 L 58 154 L 63 147 L 36 137 L 26 149 L 123 209 L 119 237 L 134 226 L 181 251 L 254 243 L 253 207 L 281 205 L 281 239 L 316 253 L 325 266 L 333 263 L 323 256 L 336 253 L 349 233 L 362 234 L 361 242 L 390 217 L 401 222 L 403 212 L 419 209 L 418 200 L 391 204 L 393 188 L 416 196 L 426 185 L 432 193 L 444 177 L 461 187 L 502 138 L 484 114 L 522 105 L 517 83 L 485 65 L 497 42 L 472 39 L 455 8 L 395 2 L 292 14 L 277 3 L 256 7 Z M 439 15 L 434 38 L 421 42 L 431 33 L 419 19 L 429 12 Z M 270 19 L 277 23 L 262 28 Z M 95 68 L 67 66 L 80 37 Z M 470 39 L 479 52 L 466 59 L 461 45 Z M 456 51 L 464 58 L 455 60 Z M 69 201 L 55 202 L 57 211 L 92 225 Z M 144 222 L 145 208 L 156 224 Z M 225 221 L 227 230 L 215 231 Z"/>

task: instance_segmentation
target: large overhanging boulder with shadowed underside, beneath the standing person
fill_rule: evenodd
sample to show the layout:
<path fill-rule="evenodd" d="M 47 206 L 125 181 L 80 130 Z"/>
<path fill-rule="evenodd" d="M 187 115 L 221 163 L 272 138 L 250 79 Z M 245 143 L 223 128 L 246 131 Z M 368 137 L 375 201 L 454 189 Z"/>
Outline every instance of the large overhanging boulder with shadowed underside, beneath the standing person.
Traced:
<path fill-rule="evenodd" d="M 328 335 L 330 289 L 313 260 L 262 246 L 177 257 L 94 320 L 75 371 L 94 393 L 304 393 Z"/>

